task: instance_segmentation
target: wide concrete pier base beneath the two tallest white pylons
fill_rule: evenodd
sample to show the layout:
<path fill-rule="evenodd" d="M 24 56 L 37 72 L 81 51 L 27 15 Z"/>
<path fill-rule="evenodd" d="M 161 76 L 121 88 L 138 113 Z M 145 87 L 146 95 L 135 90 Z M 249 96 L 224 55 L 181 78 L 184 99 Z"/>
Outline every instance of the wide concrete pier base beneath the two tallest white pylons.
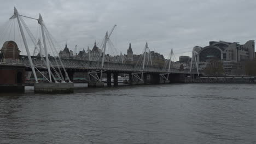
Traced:
<path fill-rule="evenodd" d="M 72 93 L 74 83 L 34 83 L 35 93 Z"/>

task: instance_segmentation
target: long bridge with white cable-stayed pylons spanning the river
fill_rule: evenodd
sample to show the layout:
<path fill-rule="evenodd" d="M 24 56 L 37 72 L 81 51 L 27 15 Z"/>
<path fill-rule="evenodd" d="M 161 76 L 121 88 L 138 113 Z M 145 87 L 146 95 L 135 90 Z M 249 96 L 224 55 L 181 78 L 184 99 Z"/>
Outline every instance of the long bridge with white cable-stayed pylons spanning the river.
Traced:
<path fill-rule="evenodd" d="M 40 36 L 38 41 L 26 25 L 22 17 L 37 20 L 40 27 Z M 171 59 L 173 52 L 171 50 L 170 58 L 164 67 L 155 67 L 152 65 L 150 50 L 148 43 L 143 49 L 143 53 L 136 64 L 112 63 L 105 61 L 107 45 L 110 41 L 110 35 L 114 31 L 114 27 L 104 36 L 101 45 L 102 53 L 97 56 L 97 61 L 83 61 L 78 59 L 65 59 L 60 58 L 57 53 L 56 41 L 46 28 L 42 16 L 39 19 L 20 15 L 18 10 L 14 8 L 14 15 L 10 20 L 16 22 L 18 32 L 12 31 L 5 33 L 19 33 L 22 38 L 22 46 L 26 50 L 26 56 L 18 55 L 18 45 L 15 43 L 15 38 L 7 38 L 3 44 L 0 55 L 0 89 L 1 91 L 24 91 L 25 71 L 32 71 L 35 79 L 34 91 L 35 92 L 69 92 L 73 91 L 73 74 L 75 72 L 85 72 L 89 75 L 88 87 L 102 87 L 103 74 L 107 76 L 107 86 L 111 86 L 111 78 L 113 75 L 114 86 L 118 86 L 118 75 L 128 74 L 129 83 L 133 85 L 142 85 L 144 83 L 170 83 L 181 82 L 187 75 L 199 75 L 198 69 L 196 70 L 180 70 L 171 68 Z M 14 24 L 15 26 L 15 24 Z M 25 31 L 24 31 L 25 29 Z M 27 37 L 28 35 L 28 37 Z M 27 38 L 30 38 L 34 44 L 35 50 L 39 50 L 39 56 L 31 56 L 30 49 L 28 49 Z M 41 44 L 40 40 L 43 40 Z M 2 39 L 1 39 L 2 41 Z M 48 57 L 51 51 L 53 57 Z M 192 58 L 194 59 L 194 58 Z M 196 61 L 195 61 L 196 62 Z M 192 64 L 192 63 L 191 63 Z M 196 64 L 197 65 L 197 64 Z M 37 74 L 42 75 L 47 82 L 39 82 Z M 150 79 L 148 78 L 150 77 Z"/>

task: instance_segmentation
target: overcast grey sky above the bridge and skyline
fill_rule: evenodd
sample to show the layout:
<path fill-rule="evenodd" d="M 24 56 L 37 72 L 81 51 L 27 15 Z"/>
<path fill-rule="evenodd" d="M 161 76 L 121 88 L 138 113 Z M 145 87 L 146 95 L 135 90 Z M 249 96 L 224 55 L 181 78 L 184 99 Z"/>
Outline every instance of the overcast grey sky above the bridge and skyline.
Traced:
<path fill-rule="evenodd" d="M 3 0 L 2 0 L 3 1 Z M 150 50 L 167 56 L 190 56 L 195 45 L 224 40 L 245 43 L 256 37 L 256 1 L 167 0 L 167 1 L 3 1 L 0 25 L 13 15 L 42 14 L 51 34 L 63 48 L 82 50 L 101 43 L 106 31 L 117 24 L 112 39 L 117 49 L 139 54 L 148 41 Z"/>

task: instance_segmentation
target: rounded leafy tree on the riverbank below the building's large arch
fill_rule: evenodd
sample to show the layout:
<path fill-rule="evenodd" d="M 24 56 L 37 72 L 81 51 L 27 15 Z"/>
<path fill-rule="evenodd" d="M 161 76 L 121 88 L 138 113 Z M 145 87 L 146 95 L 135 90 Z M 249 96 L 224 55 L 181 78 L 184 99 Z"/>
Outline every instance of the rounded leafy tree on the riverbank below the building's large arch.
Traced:
<path fill-rule="evenodd" d="M 211 60 L 203 70 L 206 75 L 218 76 L 224 74 L 223 63 L 215 59 Z"/>

